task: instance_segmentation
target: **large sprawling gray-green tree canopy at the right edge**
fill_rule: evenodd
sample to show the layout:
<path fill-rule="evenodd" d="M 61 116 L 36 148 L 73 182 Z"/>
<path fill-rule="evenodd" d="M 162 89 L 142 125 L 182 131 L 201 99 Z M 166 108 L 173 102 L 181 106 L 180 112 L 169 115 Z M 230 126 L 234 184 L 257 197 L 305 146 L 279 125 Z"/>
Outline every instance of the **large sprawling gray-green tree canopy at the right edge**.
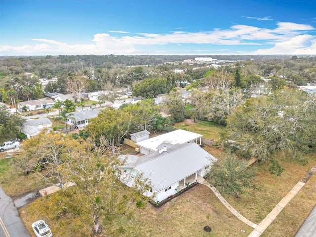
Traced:
<path fill-rule="evenodd" d="M 224 141 L 244 157 L 269 158 L 276 150 L 308 152 L 316 147 L 316 98 L 306 92 L 276 90 L 247 99 L 227 118 Z M 229 143 L 228 143 L 229 144 Z"/>

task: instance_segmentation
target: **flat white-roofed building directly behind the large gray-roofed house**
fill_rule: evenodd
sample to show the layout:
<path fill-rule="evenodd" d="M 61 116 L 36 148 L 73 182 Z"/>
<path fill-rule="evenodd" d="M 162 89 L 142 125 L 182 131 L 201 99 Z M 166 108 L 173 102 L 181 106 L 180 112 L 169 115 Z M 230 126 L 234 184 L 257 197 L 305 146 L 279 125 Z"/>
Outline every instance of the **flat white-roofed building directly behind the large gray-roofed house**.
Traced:
<path fill-rule="evenodd" d="M 203 135 L 194 132 L 178 129 L 157 137 L 152 137 L 150 139 L 137 142 L 135 144 L 140 147 L 141 153 L 149 154 L 151 152 L 157 151 L 158 146 L 163 142 L 170 144 L 199 143 L 199 145 L 201 145 L 202 136 Z"/>

